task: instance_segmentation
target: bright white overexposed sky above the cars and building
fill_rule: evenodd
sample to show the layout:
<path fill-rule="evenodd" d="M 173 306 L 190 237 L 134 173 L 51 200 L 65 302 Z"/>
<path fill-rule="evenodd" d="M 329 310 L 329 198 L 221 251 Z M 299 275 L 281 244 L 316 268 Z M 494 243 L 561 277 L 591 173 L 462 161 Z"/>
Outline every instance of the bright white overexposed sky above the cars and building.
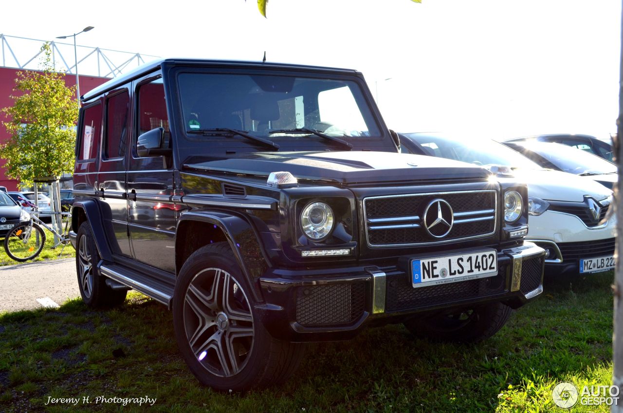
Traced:
<path fill-rule="evenodd" d="M 620 0 L 269 0 L 268 18 L 254 0 L 23 4 L 2 4 L 0 33 L 94 26 L 78 45 L 360 70 L 398 132 L 616 132 Z"/>

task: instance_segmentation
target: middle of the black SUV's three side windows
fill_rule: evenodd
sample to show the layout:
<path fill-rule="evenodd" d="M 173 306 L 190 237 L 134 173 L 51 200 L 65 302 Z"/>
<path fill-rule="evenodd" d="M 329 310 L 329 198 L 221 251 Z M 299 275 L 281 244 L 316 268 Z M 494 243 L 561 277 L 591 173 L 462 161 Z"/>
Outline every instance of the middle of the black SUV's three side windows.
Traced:
<path fill-rule="evenodd" d="M 116 94 L 107 101 L 106 112 L 106 158 L 121 158 L 125 155 L 128 140 L 128 91 Z"/>

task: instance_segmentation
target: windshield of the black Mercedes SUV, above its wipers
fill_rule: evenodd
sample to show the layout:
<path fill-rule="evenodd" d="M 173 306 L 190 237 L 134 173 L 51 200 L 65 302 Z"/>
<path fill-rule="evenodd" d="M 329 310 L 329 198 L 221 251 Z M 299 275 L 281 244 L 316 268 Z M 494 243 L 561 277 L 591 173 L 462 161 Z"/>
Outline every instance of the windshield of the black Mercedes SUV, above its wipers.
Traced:
<path fill-rule="evenodd" d="M 223 128 L 277 143 L 304 138 L 335 144 L 302 129 L 340 138 L 381 135 L 359 85 L 351 80 L 182 73 L 178 82 L 190 140 L 231 140 L 231 134 L 214 130 Z M 286 129 L 298 132 L 280 132 Z"/>

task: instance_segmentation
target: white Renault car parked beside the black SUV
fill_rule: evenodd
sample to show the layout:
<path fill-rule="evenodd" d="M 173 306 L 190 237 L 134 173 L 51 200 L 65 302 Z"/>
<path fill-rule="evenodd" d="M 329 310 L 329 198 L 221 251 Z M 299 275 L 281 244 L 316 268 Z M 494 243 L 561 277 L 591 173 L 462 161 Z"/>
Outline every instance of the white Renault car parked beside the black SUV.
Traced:
<path fill-rule="evenodd" d="M 502 143 L 450 138 L 441 134 L 402 134 L 401 150 L 483 165 L 499 179 L 528 184 L 528 236 L 547 251 L 546 273 L 598 273 L 614 268 L 616 218 L 608 213 L 612 191 L 571 173 L 545 170 Z M 506 199 L 506 207 L 521 200 Z"/>

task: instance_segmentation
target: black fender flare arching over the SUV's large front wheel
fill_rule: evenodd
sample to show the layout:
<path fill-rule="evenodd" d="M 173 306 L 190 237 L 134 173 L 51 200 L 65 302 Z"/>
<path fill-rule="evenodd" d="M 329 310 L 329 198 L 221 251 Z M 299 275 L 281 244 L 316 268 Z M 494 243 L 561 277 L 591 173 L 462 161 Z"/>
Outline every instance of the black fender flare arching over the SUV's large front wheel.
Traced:
<path fill-rule="evenodd" d="M 252 287 L 255 301 L 263 301 L 259 279 L 271 263 L 261 247 L 260 236 L 243 216 L 223 213 L 221 211 L 188 211 L 181 214 L 176 228 L 175 247 L 183 240 L 178 239 L 178 229 L 188 221 L 201 221 L 219 228 L 226 236 L 227 242 L 234 253 L 235 259 L 242 270 L 242 275 Z M 177 268 L 176 274 L 181 268 Z"/>

